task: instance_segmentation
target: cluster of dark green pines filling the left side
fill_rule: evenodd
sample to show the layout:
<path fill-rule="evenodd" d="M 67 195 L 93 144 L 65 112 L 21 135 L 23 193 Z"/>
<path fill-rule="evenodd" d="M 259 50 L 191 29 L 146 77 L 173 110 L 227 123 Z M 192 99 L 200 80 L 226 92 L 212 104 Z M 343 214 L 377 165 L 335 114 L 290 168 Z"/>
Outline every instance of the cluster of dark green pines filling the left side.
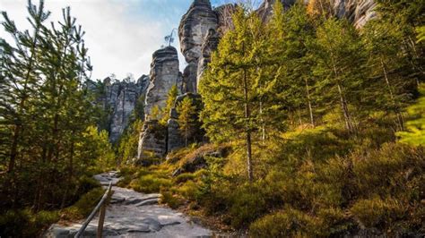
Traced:
<path fill-rule="evenodd" d="M 51 24 L 43 1 L 29 1 L 28 13 L 30 30 L 2 13 L 13 42 L 0 39 L 0 217 L 65 208 L 86 192 L 82 177 L 113 165 L 84 87 L 92 67 L 82 27 L 69 7 Z"/>

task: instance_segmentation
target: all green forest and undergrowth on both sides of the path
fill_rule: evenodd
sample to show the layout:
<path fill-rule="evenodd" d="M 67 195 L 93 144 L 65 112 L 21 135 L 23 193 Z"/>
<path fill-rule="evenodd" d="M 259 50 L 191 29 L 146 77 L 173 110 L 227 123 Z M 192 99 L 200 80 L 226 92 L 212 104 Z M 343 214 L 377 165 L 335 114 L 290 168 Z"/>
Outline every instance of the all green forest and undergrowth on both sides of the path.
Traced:
<path fill-rule="evenodd" d="M 102 194 L 91 175 L 111 168 L 120 186 L 252 237 L 425 234 L 425 5 L 376 2 L 359 29 L 322 1 L 277 2 L 266 22 L 239 5 L 202 103 L 175 105 L 173 88 L 152 113 L 165 125 L 176 107 L 185 139 L 152 166 L 131 164 L 143 103 L 116 144 L 97 128 L 69 8 L 50 25 L 42 2 L 29 4 L 30 31 L 3 13 L 15 42 L 0 39 L 0 234 L 87 216 Z M 191 167 L 199 158 L 205 166 Z"/>

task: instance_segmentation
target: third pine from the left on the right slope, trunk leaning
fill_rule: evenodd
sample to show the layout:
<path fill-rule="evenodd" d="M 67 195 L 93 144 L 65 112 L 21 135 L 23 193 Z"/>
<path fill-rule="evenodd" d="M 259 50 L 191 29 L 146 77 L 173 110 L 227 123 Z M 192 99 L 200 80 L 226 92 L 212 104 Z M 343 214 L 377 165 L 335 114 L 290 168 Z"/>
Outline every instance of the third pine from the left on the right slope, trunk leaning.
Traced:
<path fill-rule="evenodd" d="M 331 18 L 317 29 L 317 40 L 312 56 L 317 87 L 325 101 L 337 102 L 343 113 L 345 128 L 355 131 L 350 104 L 360 102 L 360 86 L 365 79 L 364 55 L 360 38 L 347 21 Z"/>

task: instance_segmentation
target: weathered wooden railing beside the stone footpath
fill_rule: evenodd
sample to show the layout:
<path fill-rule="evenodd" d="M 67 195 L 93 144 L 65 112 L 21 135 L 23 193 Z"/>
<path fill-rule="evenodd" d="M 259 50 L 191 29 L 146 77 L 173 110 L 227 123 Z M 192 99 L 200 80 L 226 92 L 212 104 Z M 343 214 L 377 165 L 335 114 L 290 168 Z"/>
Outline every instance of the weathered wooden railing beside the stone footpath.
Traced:
<path fill-rule="evenodd" d="M 112 182 L 109 182 L 107 191 L 105 191 L 105 193 L 102 196 L 102 199 L 99 201 L 98 205 L 96 205 L 96 208 L 94 208 L 91 211 L 91 214 L 84 221 L 84 223 L 82 224 L 82 227 L 80 228 L 80 230 L 78 230 L 78 233 L 75 234 L 74 238 L 80 238 L 82 236 L 82 233 L 87 228 L 87 225 L 90 224 L 91 220 L 93 219 L 94 216 L 96 216 L 99 210 L 100 210 L 100 215 L 99 215 L 99 223 L 98 223 L 98 233 L 96 234 L 96 236 L 102 237 L 106 207 L 108 206 L 108 200 L 110 199 L 110 195 L 112 193 L 111 188 L 112 188 Z"/>

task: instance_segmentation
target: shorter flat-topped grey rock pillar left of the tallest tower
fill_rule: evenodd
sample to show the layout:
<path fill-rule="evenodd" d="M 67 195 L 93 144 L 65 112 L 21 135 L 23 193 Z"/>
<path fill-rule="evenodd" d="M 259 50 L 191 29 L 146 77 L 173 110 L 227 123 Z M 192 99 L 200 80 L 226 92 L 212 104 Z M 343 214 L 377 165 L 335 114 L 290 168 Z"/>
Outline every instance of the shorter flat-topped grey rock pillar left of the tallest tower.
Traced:
<path fill-rule="evenodd" d="M 158 106 L 162 109 L 174 85 L 181 89 L 181 73 L 178 70 L 178 52 L 175 47 L 165 47 L 155 51 L 152 55 L 151 83 L 146 93 L 144 114 L 150 119 L 152 109 Z"/>

